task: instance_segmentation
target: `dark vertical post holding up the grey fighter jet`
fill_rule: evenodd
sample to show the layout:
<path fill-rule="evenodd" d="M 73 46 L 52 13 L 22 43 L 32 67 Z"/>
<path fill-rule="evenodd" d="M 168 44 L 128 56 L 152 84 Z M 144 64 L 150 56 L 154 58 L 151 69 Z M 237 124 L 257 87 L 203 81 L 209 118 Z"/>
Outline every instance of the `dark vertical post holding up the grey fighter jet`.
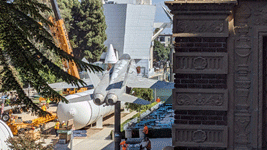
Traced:
<path fill-rule="evenodd" d="M 114 125 L 114 150 L 120 150 L 121 142 L 121 102 L 117 101 L 115 104 L 115 125 Z"/>

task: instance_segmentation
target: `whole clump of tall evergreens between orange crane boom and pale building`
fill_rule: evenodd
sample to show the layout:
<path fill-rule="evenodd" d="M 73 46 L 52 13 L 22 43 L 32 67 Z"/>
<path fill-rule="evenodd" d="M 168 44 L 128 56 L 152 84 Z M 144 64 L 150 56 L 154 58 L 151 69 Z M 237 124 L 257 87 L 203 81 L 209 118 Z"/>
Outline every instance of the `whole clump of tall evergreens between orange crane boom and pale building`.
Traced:
<path fill-rule="evenodd" d="M 106 51 L 106 23 L 103 5 L 99 0 L 58 0 L 66 30 L 69 33 L 74 57 L 99 60 Z M 50 14 L 51 15 L 51 14 Z"/>

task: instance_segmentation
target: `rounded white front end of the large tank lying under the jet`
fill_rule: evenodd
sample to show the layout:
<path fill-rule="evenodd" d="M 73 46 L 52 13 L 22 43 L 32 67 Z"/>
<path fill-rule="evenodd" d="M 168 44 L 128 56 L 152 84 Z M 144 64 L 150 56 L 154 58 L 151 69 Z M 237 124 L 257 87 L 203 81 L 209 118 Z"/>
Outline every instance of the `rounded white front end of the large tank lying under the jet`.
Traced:
<path fill-rule="evenodd" d="M 73 119 L 75 129 L 85 127 L 91 119 L 91 107 L 87 101 L 76 103 L 62 103 L 57 107 L 57 116 L 60 122 Z"/>

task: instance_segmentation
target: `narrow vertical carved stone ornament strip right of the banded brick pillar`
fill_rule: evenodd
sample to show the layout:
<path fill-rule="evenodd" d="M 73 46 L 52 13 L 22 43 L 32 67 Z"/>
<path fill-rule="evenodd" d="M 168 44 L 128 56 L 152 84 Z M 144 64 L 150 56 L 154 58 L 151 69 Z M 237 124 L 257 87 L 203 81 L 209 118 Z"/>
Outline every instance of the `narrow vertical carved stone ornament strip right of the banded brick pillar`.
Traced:
<path fill-rule="evenodd" d="M 251 55 L 251 41 L 248 36 L 249 27 L 247 25 L 248 19 L 251 16 L 251 10 L 247 4 L 242 4 L 238 7 L 236 12 L 235 31 L 237 38 L 235 41 L 236 53 L 236 77 L 235 77 L 235 143 L 236 149 L 250 149 L 249 135 L 251 112 L 250 109 L 250 55 Z"/>

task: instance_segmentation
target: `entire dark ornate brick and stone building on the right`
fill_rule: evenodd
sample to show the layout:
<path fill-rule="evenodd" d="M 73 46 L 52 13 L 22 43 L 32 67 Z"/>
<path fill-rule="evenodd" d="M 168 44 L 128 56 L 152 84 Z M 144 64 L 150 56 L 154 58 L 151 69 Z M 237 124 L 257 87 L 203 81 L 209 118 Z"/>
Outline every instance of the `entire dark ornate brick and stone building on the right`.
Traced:
<path fill-rule="evenodd" d="M 176 149 L 266 149 L 267 1 L 176 0 Z"/>

